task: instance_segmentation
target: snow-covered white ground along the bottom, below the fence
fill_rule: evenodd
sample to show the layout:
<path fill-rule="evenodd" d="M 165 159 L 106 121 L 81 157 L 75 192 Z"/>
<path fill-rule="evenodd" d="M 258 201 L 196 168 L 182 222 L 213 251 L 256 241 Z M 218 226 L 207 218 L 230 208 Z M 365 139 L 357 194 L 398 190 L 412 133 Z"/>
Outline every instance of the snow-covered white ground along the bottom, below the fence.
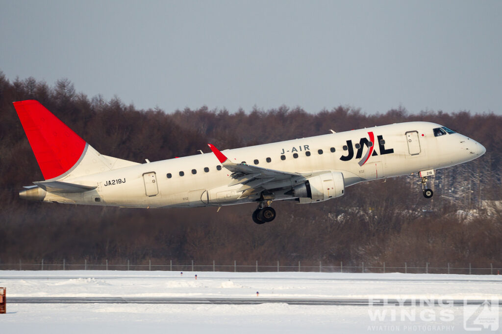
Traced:
<path fill-rule="evenodd" d="M 502 300 L 502 276 L 498 275 L 0 271 L 0 286 L 7 287 L 8 298 L 7 314 L 0 314 L 1 333 L 467 332 L 465 325 L 467 329 L 500 332 L 494 322 L 502 315 L 498 302 L 491 304 L 491 313 L 486 313 L 487 308 L 479 303 L 463 306 L 449 301 Z M 366 301 L 362 305 L 9 302 L 16 297 Z M 416 303 L 372 305 L 373 301 L 385 304 L 386 298 L 413 299 Z M 439 301 L 439 305 L 431 300 Z M 487 328 L 476 322 L 481 319 L 479 314 L 491 316 Z"/>

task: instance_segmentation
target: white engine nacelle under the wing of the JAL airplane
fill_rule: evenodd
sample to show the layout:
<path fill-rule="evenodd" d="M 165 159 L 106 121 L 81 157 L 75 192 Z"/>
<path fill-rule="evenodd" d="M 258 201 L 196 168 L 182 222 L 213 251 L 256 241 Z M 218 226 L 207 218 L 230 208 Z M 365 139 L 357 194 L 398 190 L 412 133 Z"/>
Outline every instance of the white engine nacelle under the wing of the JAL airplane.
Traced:
<path fill-rule="evenodd" d="M 307 181 L 293 188 L 293 194 L 300 204 L 326 201 L 340 197 L 345 192 L 343 174 L 326 172 L 307 178 Z"/>

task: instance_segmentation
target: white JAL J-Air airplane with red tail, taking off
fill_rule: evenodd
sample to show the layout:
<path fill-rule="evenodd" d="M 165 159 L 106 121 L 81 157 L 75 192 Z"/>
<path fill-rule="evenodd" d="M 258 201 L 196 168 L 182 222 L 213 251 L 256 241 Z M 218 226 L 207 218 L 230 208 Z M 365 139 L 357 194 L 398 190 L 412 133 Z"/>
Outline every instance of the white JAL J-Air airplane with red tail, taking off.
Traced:
<path fill-rule="evenodd" d="M 418 173 L 423 195 L 434 170 L 486 149 L 430 122 L 407 122 L 138 163 L 98 153 L 35 100 L 14 107 L 44 176 L 24 187 L 35 201 L 141 208 L 257 203 L 253 221 L 274 220 L 271 204 L 316 203 L 359 182 Z"/>

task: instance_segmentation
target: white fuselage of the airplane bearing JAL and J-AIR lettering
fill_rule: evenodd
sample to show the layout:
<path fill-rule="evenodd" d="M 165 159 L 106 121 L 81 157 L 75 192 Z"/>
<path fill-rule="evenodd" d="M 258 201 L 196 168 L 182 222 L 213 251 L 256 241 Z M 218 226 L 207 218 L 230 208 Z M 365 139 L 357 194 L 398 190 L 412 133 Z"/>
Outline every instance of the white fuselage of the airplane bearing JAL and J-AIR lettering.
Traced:
<path fill-rule="evenodd" d="M 399 123 L 225 150 L 222 153 L 234 163 L 245 162 L 247 165 L 298 173 L 299 177 L 325 171 L 341 172 L 345 186 L 453 166 L 484 153 L 482 145 L 459 133 L 435 136 L 433 129 L 438 127 L 441 125 L 428 122 Z M 373 145 L 367 144 L 371 142 L 371 136 Z M 368 153 L 370 155 L 366 160 Z M 222 167 L 212 153 L 137 164 L 79 177 L 69 174 L 58 180 L 97 187 L 78 193 L 48 192 L 44 201 L 186 207 L 255 202 L 260 197 L 260 194 L 240 197 L 243 185 L 235 183 L 231 172 Z M 293 186 L 291 182 L 277 182 L 277 186 L 273 187 L 277 189 L 273 191 L 275 200 L 294 198 L 286 194 Z"/>

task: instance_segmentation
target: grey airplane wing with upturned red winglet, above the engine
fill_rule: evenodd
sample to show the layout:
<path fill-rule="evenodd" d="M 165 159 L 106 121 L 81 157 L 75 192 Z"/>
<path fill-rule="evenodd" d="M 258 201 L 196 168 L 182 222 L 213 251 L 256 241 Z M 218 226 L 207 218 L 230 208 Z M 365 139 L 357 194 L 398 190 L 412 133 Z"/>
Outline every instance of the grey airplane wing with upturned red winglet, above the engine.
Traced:
<path fill-rule="evenodd" d="M 239 189 L 240 191 L 243 191 L 240 198 L 258 193 L 262 190 L 283 188 L 280 181 L 291 180 L 293 182 L 293 180 L 304 178 L 304 176 L 299 173 L 290 173 L 276 169 L 232 162 L 214 145 L 207 145 L 216 158 L 218 158 L 221 165 L 231 172 L 230 176 L 234 179 L 234 182 L 230 185 L 239 183 L 242 184 L 242 188 Z"/>

